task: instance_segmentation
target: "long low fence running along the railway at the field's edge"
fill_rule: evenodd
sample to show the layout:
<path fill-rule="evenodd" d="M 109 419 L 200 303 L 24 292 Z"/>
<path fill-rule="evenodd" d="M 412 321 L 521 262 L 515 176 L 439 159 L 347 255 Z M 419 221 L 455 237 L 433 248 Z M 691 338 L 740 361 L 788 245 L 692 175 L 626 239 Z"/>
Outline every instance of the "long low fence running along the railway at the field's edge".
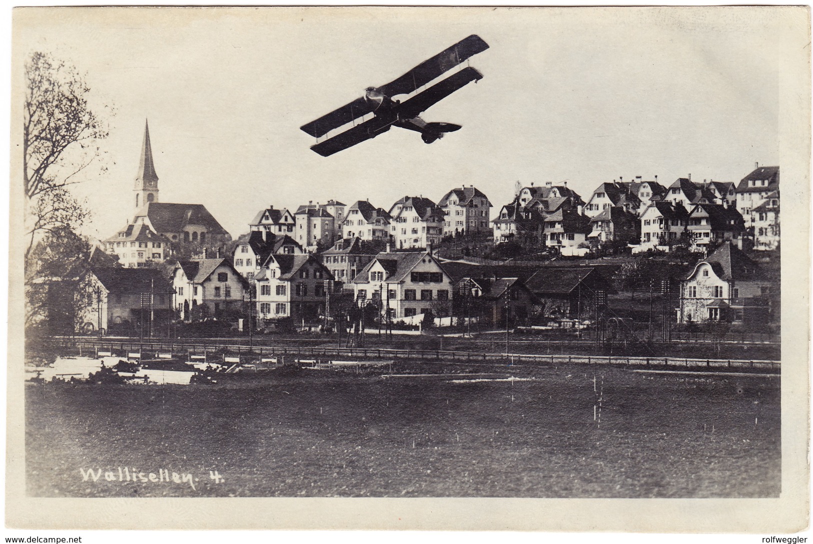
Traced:
<path fill-rule="evenodd" d="M 525 354 L 525 353 L 495 353 L 495 352 L 459 352 L 428 349 L 389 349 L 389 348 L 333 348 L 333 347 L 267 347 L 267 346 L 241 346 L 241 345 L 191 345 L 189 343 L 174 344 L 163 342 L 99 342 L 91 339 L 76 339 L 71 342 L 63 340 L 64 348 L 78 348 L 85 354 L 111 353 L 113 356 L 137 352 L 142 358 L 144 354 L 171 353 L 179 357 L 192 360 L 202 356 L 204 360 L 215 356 L 221 361 L 252 362 L 262 361 L 263 357 L 293 356 L 310 358 L 350 357 L 354 359 L 385 359 L 385 360 L 420 360 L 443 361 L 459 363 L 484 363 L 489 361 L 511 361 L 517 363 L 533 363 L 537 365 L 624 365 L 638 367 L 666 367 L 666 368 L 722 368 L 722 369 L 763 369 L 779 370 L 779 361 L 764 360 L 728 360 L 728 359 L 695 359 L 689 357 L 653 357 L 653 356 L 582 356 L 558 354 Z M 285 357 L 287 359 L 287 357 Z"/>

